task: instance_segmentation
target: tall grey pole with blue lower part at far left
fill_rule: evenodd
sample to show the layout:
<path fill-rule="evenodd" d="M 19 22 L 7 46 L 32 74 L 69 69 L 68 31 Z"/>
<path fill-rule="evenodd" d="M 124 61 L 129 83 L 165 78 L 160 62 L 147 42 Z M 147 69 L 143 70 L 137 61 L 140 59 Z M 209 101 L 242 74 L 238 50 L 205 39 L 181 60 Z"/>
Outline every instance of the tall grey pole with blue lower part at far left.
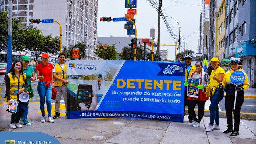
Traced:
<path fill-rule="evenodd" d="M 6 73 L 12 68 L 12 0 L 9 0 Z"/>

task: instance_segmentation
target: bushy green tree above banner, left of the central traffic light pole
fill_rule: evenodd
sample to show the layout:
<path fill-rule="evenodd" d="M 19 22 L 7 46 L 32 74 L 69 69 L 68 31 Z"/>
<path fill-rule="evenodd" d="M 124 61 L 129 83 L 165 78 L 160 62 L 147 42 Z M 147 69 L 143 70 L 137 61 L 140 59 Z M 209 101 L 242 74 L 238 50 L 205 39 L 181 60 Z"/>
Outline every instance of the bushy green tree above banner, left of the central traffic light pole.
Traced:
<path fill-rule="evenodd" d="M 100 44 L 98 42 L 97 48 L 94 49 L 95 54 L 99 57 L 99 59 L 103 60 L 115 60 L 116 59 L 116 49 L 115 49 L 115 44 L 112 46 L 106 46 Z"/>

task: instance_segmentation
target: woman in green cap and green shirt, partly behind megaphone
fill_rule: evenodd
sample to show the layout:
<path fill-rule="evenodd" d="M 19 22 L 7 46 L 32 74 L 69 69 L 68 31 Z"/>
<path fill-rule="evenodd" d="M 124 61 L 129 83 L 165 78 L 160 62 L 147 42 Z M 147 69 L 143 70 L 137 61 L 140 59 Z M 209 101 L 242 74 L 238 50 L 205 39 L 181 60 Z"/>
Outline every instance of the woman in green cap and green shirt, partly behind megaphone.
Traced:
<path fill-rule="evenodd" d="M 23 71 L 27 75 L 26 79 L 27 79 L 27 83 L 29 84 L 28 88 L 25 91 L 29 93 L 29 98 L 33 98 L 34 94 L 33 94 L 32 86 L 31 86 L 31 81 L 35 81 L 36 77 L 35 77 L 34 69 L 32 67 L 28 66 L 29 62 L 30 62 L 30 59 L 28 56 L 23 56 L 21 58 L 21 63 L 23 65 Z M 28 104 L 29 104 L 29 101 L 25 102 L 24 113 L 23 113 L 21 119 L 19 120 L 19 123 L 23 123 L 24 125 L 31 125 L 31 123 L 29 123 L 27 121 L 27 114 L 29 112 Z"/>

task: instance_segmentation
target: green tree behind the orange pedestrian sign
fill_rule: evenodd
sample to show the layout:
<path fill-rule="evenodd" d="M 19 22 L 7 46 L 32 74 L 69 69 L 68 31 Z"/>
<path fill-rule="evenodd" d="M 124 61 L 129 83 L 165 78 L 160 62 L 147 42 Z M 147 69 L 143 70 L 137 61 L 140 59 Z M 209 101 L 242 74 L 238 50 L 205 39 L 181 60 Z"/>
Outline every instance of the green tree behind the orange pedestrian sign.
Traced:
<path fill-rule="evenodd" d="M 62 47 L 62 52 L 64 54 L 66 54 L 66 57 L 69 59 L 73 58 L 73 48 L 79 48 L 79 52 L 80 52 L 80 57 L 79 60 L 81 60 L 82 58 L 85 58 L 87 56 L 87 51 L 86 51 L 86 42 L 78 42 L 75 45 L 72 45 L 70 48 L 67 47 Z"/>

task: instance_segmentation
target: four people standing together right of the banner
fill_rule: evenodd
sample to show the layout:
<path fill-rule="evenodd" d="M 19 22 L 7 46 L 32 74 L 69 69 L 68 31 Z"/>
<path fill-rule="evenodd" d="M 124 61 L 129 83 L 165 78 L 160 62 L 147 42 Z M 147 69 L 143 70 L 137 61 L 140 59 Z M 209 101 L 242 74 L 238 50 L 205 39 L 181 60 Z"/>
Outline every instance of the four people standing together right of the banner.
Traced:
<path fill-rule="evenodd" d="M 209 106 L 210 110 L 210 123 L 209 126 L 205 129 L 205 131 L 210 132 L 214 129 L 219 130 L 219 102 L 224 97 L 223 88 L 225 89 L 225 109 L 227 116 L 227 125 L 228 128 L 223 133 L 230 133 L 231 136 L 237 136 L 239 134 L 239 124 L 240 124 L 240 110 L 244 102 L 244 90 L 249 88 L 248 77 L 245 75 L 245 80 L 241 85 L 234 85 L 231 83 L 230 76 L 234 71 L 242 71 L 239 69 L 239 61 L 231 60 L 231 71 L 225 73 L 224 69 L 220 67 L 219 59 L 214 57 L 210 61 L 210 65 L 208 65 L 207 72 L 204 71 L 202 62 L 196 62 L 195 66 L 191 65 L 192 55 L 186 54 L 184 57 L 185 60 L 185 102 L 184 102 L 184 111 L 185 105 L 188 104 L 188 118 L 191 126 L 199 127 L 202 117 L 204 116 L 204 105 L 206 100 L 208 100 L 208 96 L 206 96 L 206 88 L 210 90 L 210 101 L 211 104 Z M 207 65 L 207 64 L 206 64 Z M 209 70 L 210 69 L 210 70 Z M 209 70 L 209 71 L 208 71 Z M 200 79 L 200 84 L 196 86 L 199 89 L 198 98 L 188 97 L 187 93 L 187 79 Z M 233 109 L 234 101 L 235 101 L 235 91 L 237 91 L 237 99 L 235 109 Z M 196 117 L 194 108 L 198 105 L 198 118 Z M 234 112 L 234 129 L 232 122 L 232 111 Z M 215 121 L 215 125 L 214 125 Z"/>

